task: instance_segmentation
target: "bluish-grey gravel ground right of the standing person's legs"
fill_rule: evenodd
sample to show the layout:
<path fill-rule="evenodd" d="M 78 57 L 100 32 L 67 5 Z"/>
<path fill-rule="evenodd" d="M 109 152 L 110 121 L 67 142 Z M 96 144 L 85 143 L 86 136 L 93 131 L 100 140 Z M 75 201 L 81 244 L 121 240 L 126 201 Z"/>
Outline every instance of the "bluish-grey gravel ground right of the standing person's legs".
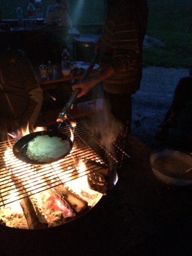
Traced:
<path fill-rule="evenodd" d="M 132 95 L 131 135 L 140 139 L 151 150 L 164 146 L 189 149 L 191 135 L 184 127 L 170 129 L 168 140 L 155 139 L 156 131 L 160 130 L 158 126 L 172 103 L 178 80 L 184 76 L 189 76 L 188 69 L 143 68 L 141 87 Z"/>

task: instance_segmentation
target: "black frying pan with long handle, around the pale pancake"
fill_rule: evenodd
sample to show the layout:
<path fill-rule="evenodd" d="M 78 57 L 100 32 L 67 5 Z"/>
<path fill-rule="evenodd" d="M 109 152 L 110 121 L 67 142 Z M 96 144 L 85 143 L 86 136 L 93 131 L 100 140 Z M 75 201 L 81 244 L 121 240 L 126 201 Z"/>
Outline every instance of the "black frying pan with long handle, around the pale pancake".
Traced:
<path fill-rule="evenodd" d="M 93 67 L 95 66 L 96 58 L 97 58 L 97 54 L 95 54 L 89 67 L 85 70 L 85 73 L 82 76 L 80 82 L 83 82 L 89 76 L 90 72 L 92 71 Z M 64 119 L 66 119 L 66 114 L 69 111 L 69 109 L 71 108 L 71 105 L 73 104 L 73 102 L 76 100 L 79 92 L 80 92 L 80 89 L 76 89 L 72 93 L 69 101 L 67 102 L 66 106 L 63 108 L 62 112 L 59 114 L 58 119 L 56 120 L 56 122 L 58 124 L 55 129 L 49 130 L 49 131 L 36 131 L 35 133 L 27 134 L 27 135 L 21 137 L 19 140 L 17 140 L 17 142 L 15 143 L 15 145 L 13 146 L 13 149 L 12 149 L 13 153 L 17 157 L 17 159 L 19 159 L 25 163 L 29 163 L 29 164 L 41 165 L 41 164 L 49 164 L 49 163 L 58 161 L 60 159 L 63 159 L 70 153 L 70 151 L 72 150 L 72 147 L 73 147 L 73 143 L 72 143 L 71 139 L 67 135 L 60 133 L 58 130 L 59 130 L 61 124 L 63 123 Z M 70 143 L 69 151 L 66 154 L 58 157 L 57 159 L 54 159 L 49 162 L 38 162 L 38 161 L 29 159 L 26 155 L 28 142 L 30 142 L 32 139 L 34 139 L 37 136 L 43 136 L 43 135 L 49 135 L 50 137 L 55 136 L 55 137 L 61 138 L 62 140 L 67 140 Z"/>

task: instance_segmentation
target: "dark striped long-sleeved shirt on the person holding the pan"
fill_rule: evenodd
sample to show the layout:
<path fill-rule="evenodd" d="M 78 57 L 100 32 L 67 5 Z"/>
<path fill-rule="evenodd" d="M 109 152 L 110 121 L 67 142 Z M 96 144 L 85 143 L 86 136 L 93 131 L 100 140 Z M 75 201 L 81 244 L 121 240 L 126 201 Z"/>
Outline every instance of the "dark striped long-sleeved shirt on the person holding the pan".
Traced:
<path fill-rule="evenodd" d="M 139 89 L 147 14 L 145 0 L 114 1 L 107 9 L 101 36 L 100 69 L 111 66 L 116 74 L 103 81 L 105 91 L 135 93 Z"/>

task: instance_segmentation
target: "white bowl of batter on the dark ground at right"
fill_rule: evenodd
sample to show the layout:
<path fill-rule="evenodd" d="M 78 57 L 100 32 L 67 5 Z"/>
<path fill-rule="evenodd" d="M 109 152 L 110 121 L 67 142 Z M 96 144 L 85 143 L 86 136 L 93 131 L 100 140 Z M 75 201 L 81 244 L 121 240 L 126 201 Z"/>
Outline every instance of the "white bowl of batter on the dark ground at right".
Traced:
<path fill-rule="evenodd" d="M 156 178 L 167 185 L 192 184 L 192 153 L 183 150 L 160 148 L 151 153 L 151 169 Z"/>

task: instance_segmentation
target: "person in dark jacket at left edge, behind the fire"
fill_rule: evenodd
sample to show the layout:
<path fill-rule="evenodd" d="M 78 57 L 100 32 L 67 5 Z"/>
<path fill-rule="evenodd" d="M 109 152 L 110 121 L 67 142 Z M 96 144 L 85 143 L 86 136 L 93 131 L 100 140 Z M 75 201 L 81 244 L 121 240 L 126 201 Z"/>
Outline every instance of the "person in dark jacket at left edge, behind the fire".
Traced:
<path fill-rule="evenodd" d="M 20 50 L 0 42 L 0 139 L 29 123 L 32 131 L 43 96 L 33 68 Z"/>

